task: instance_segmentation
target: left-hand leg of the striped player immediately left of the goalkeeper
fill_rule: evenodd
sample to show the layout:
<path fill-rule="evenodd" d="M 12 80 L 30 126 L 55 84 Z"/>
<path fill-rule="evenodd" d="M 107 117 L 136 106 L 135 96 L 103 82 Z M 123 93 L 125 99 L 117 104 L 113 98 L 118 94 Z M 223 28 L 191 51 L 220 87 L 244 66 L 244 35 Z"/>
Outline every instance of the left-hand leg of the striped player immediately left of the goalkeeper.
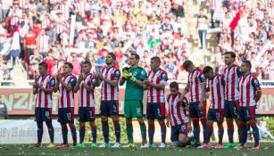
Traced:
<path fill-rule="evenodd" d="M 104 144 L 101 144 L 100 147 L 109 147 L 109 124 L 108 124 L 108 107 L 106 101 L 101 101 L 100 104 L 100 115 L 101 115 L 101 122 L 102 122 L 102 130 L 104 135 Z"/>

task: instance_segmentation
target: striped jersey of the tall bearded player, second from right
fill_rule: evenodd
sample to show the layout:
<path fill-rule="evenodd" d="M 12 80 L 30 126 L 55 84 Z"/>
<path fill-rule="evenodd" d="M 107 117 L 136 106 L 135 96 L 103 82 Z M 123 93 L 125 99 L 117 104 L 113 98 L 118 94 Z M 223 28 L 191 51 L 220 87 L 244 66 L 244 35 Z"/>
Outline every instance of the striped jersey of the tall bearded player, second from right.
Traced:
<path fill-rule="evenodd" d="M 237 65 L 225 69 L 225 100 L 236 101 L 239 100 L 239 78 L 242 73 Z"/>

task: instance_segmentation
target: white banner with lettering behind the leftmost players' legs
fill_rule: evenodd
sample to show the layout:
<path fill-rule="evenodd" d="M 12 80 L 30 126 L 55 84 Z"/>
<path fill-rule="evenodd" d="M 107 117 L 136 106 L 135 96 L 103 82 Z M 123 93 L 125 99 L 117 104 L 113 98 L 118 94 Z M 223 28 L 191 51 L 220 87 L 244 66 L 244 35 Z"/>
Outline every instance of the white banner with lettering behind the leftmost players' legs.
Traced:
<path fill-rule="evenodd" d="M 62 144 L 62 129 L 56 119 L 53 120 L 54 143 Z M 42 144 L 50 143 L 46 123 L 44 122 L 44 134 Z M 72 143 L 71 130 L 68 126 L 69 144 Z M 36 144 L 37 122 L 32 119 L 1 119 L 0 120 L 0 144 Z"/>

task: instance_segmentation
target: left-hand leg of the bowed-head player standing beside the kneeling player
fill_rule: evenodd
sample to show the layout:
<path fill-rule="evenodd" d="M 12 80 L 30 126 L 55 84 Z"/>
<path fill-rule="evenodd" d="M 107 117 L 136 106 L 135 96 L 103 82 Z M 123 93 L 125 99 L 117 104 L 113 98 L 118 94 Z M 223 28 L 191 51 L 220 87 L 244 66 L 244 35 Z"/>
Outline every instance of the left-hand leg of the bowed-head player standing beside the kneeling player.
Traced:
<path fill-rule="evenodd" d="M 195 137 L 196 145 L 200 145 L 200 125 L 199 125 L 199 115 L 196 111 L 198 107 L 198 103 L 190 103 L 189 104 L 189 117 L 193 124 L 193 134 Z"/>

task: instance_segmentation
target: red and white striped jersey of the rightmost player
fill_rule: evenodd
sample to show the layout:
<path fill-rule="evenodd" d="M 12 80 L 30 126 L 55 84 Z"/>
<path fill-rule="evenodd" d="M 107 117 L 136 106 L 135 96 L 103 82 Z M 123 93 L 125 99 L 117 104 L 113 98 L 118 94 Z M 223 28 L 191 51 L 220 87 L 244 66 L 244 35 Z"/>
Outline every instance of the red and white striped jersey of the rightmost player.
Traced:
<path fill-rule="evenodd" d="M 261 91 L 259 80 L 255 75 L 249 73 L 239 78 L 240 106 L 249 107 L 256 105 L 255 95 Z"/>

